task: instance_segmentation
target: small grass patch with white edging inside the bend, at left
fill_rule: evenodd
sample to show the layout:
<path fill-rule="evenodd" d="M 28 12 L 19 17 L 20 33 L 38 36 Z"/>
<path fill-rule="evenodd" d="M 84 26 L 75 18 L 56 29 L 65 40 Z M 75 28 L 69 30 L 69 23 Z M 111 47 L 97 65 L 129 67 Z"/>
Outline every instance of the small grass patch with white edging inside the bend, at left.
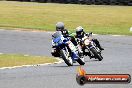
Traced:
<path fill-rule="evenodd" d="M 21 65 L 34 65 L 53 63 L 58 61 L 57 59 L 44 56 L 24 56 L 18 54 L 1 54 L 0 55 L 0 67 L 21 66 Z"/>

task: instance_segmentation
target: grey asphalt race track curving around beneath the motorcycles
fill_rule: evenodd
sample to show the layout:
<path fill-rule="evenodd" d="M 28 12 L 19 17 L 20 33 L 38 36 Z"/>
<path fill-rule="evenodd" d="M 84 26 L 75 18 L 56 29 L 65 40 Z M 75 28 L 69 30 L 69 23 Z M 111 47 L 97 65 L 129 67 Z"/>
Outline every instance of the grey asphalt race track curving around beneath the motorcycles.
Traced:
<path fill-rule="evenodd" d="M 105 50 L 99 62 L 85 57 L 83 68 L 91 74 L 132 75 L 132 37 L 96 35 Z M 51 33 L 0 30 L 0 53 L 50 55 Z M 132 88 L 130 84 L 76 83 L 78 63 L 67 67 L 65 63 L 0 70 L 0 88 Z"/>

